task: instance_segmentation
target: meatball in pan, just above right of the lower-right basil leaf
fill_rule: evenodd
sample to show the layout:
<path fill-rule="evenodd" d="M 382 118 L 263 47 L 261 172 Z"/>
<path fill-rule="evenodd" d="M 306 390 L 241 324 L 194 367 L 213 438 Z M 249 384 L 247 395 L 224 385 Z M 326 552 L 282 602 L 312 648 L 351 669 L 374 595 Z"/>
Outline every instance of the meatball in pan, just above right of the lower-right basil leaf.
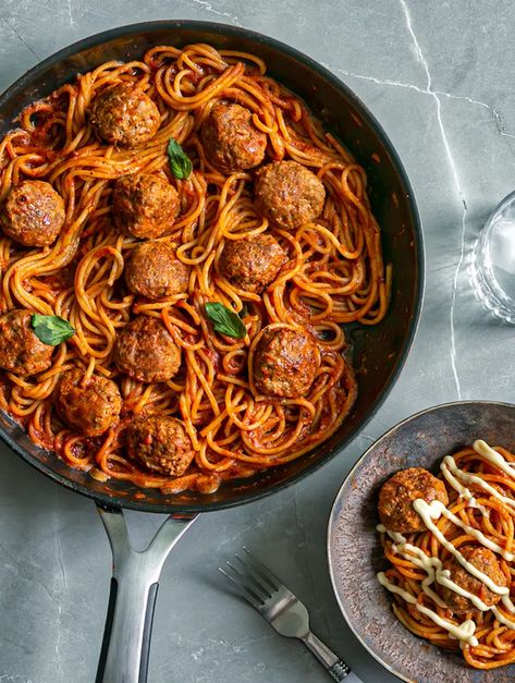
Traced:
<path fill-rule="evenodd" d="M 286 260 L 286 254 L 272 235 L 250 240 L 231 240 L 220 257 L 220 272 L 234 286 L 260 294 L 273 282 Z"/>

